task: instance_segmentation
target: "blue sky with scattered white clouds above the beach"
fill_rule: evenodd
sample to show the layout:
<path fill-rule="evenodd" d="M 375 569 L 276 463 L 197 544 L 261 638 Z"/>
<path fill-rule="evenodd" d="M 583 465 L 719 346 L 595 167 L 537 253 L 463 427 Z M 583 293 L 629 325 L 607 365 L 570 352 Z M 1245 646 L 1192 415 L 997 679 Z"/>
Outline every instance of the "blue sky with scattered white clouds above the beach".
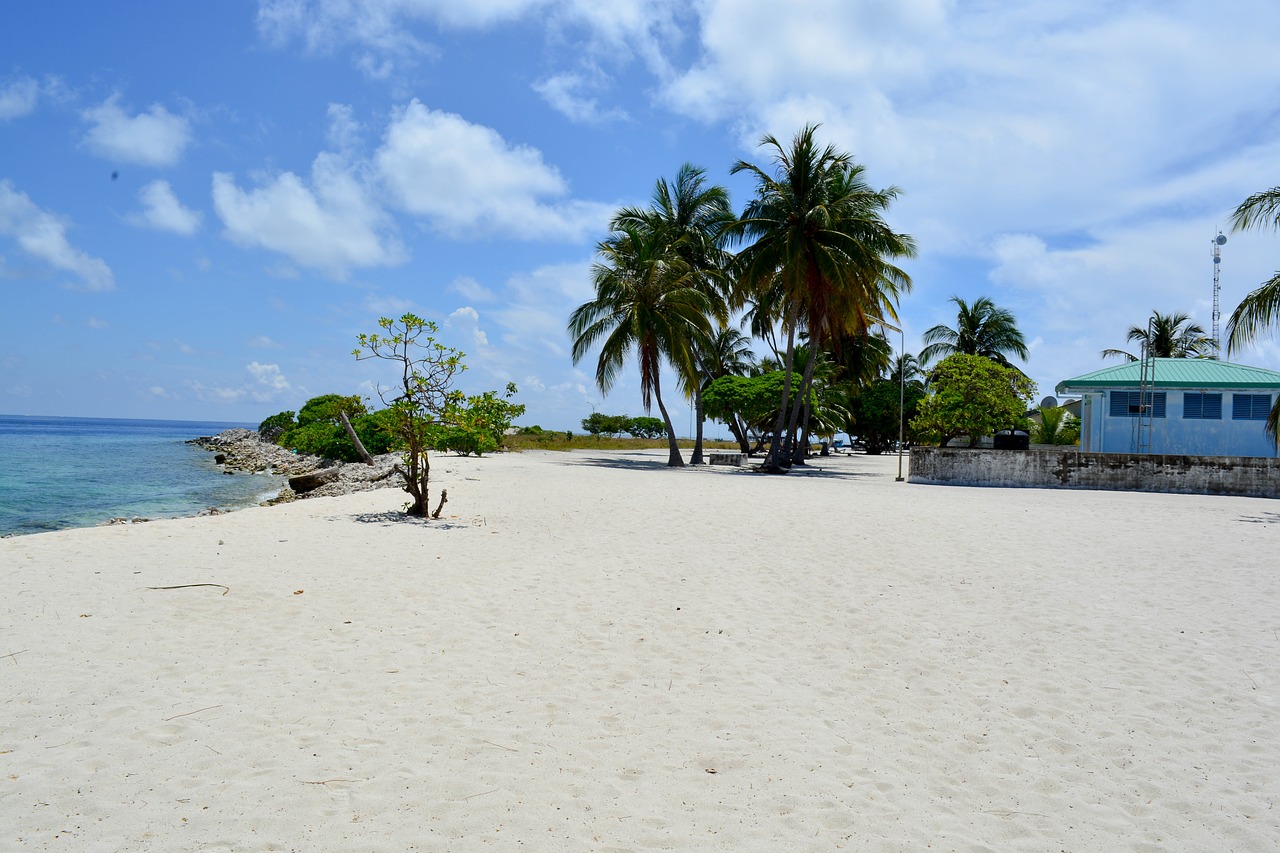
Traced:
<path fill-rule="evenodd" d="M 732 163 L 810 122 L 902 191 L 906 348 L 986 295 L 1052 393 L 1152 309 L 1211 327 L 1211 241 L 1280 183 L 1277 36 L 1274 0 L 13 0 L 0 411 L 371 396 L 356 336 L 412 310 L 524 423 L 640 414 L 564 332 L 611 214 L 686 161 L 740 209 Z M 1225 324 L 1280 236 L 1222 256 Z"/>

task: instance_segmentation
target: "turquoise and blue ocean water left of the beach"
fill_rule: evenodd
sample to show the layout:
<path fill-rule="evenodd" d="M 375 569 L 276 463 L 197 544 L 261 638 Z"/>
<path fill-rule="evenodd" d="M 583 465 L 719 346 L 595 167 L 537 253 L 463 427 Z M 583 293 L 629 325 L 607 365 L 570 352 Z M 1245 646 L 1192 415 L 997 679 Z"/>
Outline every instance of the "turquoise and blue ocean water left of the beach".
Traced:
<path fill-rule="evenodd" d="M 223 474 L 191 438 L 257 424 L 0 415 L 0 535 L 234 510 L 284 478 Z"/>

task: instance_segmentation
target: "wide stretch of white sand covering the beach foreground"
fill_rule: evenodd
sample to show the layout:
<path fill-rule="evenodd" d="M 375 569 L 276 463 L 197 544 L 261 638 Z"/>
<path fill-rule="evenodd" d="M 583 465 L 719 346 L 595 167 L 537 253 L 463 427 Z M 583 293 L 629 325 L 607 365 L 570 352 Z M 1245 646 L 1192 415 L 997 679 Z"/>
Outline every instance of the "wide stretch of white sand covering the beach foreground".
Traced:
<path fill-rule="evenodd" d="M 0 540 L 0 849 L 1280 848 L 1280 503 L 663 459 Z"/>

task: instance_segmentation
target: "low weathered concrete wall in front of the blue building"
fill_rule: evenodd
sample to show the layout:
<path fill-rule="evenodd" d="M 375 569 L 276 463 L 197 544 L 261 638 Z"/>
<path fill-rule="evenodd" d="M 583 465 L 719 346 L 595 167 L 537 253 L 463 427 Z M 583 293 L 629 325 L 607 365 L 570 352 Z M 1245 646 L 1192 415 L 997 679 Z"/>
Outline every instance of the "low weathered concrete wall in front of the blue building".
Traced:
<path fill-rule="evenodd" d="M 1280 497 L 1280 460 L 913 447 L 911 483 Z"/>

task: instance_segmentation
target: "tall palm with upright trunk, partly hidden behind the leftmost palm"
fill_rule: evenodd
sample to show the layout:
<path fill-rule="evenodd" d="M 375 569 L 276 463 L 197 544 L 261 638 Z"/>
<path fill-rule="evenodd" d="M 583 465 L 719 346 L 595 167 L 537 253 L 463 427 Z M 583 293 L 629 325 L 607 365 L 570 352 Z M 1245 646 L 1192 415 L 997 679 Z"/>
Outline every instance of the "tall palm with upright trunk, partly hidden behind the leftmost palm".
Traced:
<path fill-rule="evenodd" d="M 719 240 L 724 227 L 733 220 L 728 192 L 719 186 L 708 186 L 707 170 L 686 163 L 676 173 L 676 179 L 659 178 L 654 186 L 649 207 L 623 207 L 613 216 L 612 228 L 639 228 L 657 234 L 667 251 L 680 257 L 689 268 L 691 287 L 700 289 L 708 300 L 712 319 L 723 325 L 728 321 L 728 254 Z M 692 345 L 694 342 L 690 342 Z M 698 357 L 703 347 L 692 346 L 694 359 L 680 374 L 681 387 L 692 398 L 698 414 L 694 453 L 690 462 L 703 462 L 703 370 Z M 678 366 L 678 365 L 677 365 Z"/>

